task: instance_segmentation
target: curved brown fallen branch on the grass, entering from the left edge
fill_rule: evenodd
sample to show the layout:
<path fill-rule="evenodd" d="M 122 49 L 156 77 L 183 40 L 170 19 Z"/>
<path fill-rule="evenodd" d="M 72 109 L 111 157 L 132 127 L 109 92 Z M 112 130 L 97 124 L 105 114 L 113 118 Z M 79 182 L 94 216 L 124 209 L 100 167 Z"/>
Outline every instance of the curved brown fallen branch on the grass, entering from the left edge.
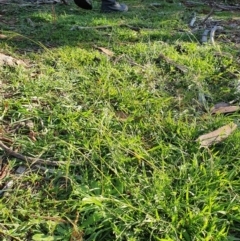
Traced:
<path fill-rule="evenodd" d="M 29 156 L 24 156 L 18 152 L 13 151 L 12 149 L 10 149 L 9 147 L 7 147 L 6 145 L 3 144 L 2 141 L 0 141 L 0 147 L 9 155 L 9 156 L 13 156 L 17 159 L 26 161 L 26 162 L 31 162 L 32 164 L 45 164 L 45 165 L 49 165 L 49 166 L 59 166 L 64 164 L 64 162 L 61 161 L 50 161 L 50 160 L 44 160 L 41 158 L 34 158 L 34 157 L 29 157 Z"/>

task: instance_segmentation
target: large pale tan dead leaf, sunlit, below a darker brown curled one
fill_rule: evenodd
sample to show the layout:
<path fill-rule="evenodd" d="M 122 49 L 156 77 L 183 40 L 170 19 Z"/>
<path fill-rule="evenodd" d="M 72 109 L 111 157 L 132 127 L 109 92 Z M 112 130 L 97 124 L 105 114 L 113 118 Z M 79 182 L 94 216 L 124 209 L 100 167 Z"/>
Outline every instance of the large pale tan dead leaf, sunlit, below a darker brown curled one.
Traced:
<path fill-rule="evenodd" d="M 200 147 L 209 147 L 226 139 L 236 128 L 236 124 L 230 123 L 213 132 L 199 136 L 197 141 L 200 142 Z"/>

